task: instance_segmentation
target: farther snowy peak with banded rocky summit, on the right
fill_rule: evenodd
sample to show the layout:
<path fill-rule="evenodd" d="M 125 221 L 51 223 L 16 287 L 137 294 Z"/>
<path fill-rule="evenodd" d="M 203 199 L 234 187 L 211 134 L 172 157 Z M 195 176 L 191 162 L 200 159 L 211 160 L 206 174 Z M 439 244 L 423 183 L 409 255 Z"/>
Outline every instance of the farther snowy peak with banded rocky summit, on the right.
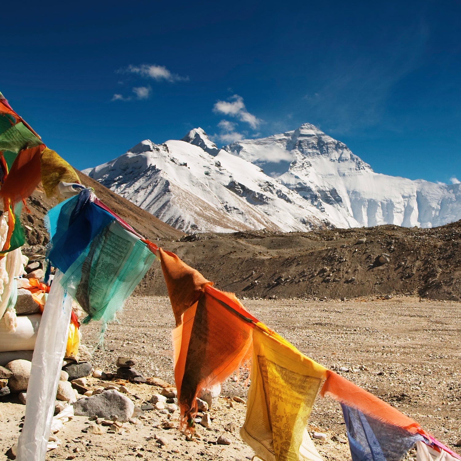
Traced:
<path fill-rule="evenodd" d="M 343 142 L 311 124 L 224 149 L 277 177 L 337 227 L 434 227 L 461 219 L 461 184 L 375 173 Z"/>

